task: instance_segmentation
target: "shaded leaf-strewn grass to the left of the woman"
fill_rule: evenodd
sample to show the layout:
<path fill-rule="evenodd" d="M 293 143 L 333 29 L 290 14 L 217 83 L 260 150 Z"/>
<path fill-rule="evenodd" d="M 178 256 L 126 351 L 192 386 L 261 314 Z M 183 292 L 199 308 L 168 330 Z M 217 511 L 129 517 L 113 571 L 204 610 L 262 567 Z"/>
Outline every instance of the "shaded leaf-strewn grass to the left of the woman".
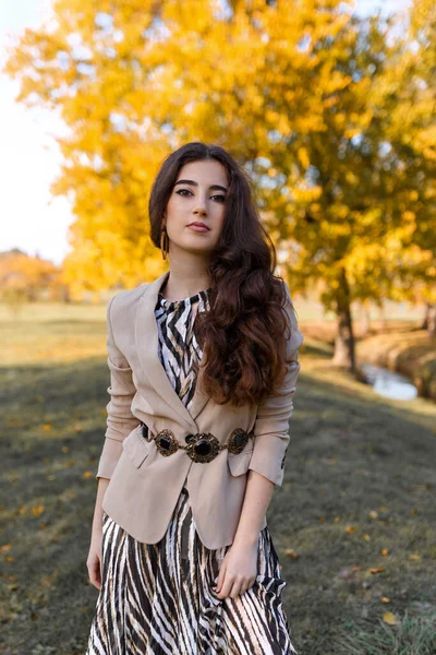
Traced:
<path fill-rule="evenodd" d="M 8 654 L 84 653 L 98 594 L 86 558 L 106 360 L 1 369 L 0 377 L 1 640 Z"/>

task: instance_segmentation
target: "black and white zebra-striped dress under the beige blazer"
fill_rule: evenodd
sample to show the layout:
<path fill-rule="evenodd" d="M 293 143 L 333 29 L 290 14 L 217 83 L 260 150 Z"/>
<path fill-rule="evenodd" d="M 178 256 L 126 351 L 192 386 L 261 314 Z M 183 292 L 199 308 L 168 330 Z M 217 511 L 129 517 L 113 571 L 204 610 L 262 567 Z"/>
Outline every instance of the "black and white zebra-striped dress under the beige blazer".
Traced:
<path fill-rule="evenodd" d="M 159 357 L 190 408 L 201 348 L 192 329 L 208 309 L 205 289 L 170 301 L 159 293 L 155 315 Z M 268 527 L 259 533 L 257 577 L 237 598 L 213 591 L 230 546 L 209 550 L 193 521 L 185 485 L 164 538 L 142 544 L 102 519 L 101 590 L 86 655 L 291 655 L 281 592 L 287 584 Z"/>

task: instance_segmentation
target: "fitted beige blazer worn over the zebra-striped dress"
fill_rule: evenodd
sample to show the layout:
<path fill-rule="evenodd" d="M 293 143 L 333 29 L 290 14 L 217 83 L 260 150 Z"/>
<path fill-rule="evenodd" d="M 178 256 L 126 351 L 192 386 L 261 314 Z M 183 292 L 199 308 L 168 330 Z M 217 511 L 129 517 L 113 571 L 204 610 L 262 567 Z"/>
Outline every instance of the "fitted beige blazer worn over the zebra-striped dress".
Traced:
<path fill-rule="evenodd" d="M 104 511 L 140 541 L 156 544 L 165 535 L 187 476 L 198 536 L 207 548 L 215 549 L 233 541 L 250 468 L 277 486 L 282 484 L 303 335 L 287 286 L 292 336 L 288 338 L 288 372 L 279 393 L 257 406 L 217 405 L 202 393 L 199 369 L 189 412 L 158 357 L 155 306 L 168 275 L 167 271 L 150 284 L 121 291 L 108 305 L 110 401 L 96 477 L 110 478 Z M 152 433 L 170 428 L 183 445 L 185 436 L 195 432 L 211 432 L 225 443 L 234 428 L 254 428 L 255 438 L 249 439 L 240 454 L 225 449 L 213 462 L 199 463 L 183 450 L 161 455 L 155 442 L 142 436 L 141 421 Z M 262 528 L 266 525 L 264 516 Z"/>

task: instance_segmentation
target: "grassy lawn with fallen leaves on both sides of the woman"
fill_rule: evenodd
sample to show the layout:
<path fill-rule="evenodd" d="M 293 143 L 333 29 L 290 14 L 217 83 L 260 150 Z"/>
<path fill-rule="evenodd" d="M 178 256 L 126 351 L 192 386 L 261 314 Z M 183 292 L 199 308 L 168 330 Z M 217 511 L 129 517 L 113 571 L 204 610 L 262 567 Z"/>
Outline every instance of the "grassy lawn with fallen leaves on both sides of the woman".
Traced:
<path fill-rule="evenodd" d="M 1 653 L 86 650 L 105 317 L 55 306 L 15 321 L 0 308 Z M 383 398 L 329 357 L 305 340 L 286 479 L 268 512 L 292 642 L 299 655 L 434 654 L 436 405 Z"/>

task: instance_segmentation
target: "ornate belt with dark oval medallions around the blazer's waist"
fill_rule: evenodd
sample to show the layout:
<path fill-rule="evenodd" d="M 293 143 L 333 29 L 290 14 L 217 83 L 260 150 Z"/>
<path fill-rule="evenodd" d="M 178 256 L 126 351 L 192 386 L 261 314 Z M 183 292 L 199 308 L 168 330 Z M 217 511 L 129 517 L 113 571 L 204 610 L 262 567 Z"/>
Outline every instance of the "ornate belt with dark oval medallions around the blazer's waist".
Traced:
<path fill-rule="evenodd" d="M 161 455 L 168 457 L 178 450 L 186 451 L 186 454 L 194 462 L 211 462 L 222 450 L 228 449 L 234 455 L 241 453 L 249 439 L 253 439 L 254 432 L 247 432 L 242 428 L 235 428 L 225 444 L 219 443 L 218 439 L 210 432 L 196 432 L 186 434 L 184 440 L 187 445 L 182 445 L 174 437 L 174 432 L 169 428 L 160 430 L 157 434 L 150 434 L 148 426 L 141 422 L 143 437 L 147 441 L 155 441 L 157 450 Z"/>

